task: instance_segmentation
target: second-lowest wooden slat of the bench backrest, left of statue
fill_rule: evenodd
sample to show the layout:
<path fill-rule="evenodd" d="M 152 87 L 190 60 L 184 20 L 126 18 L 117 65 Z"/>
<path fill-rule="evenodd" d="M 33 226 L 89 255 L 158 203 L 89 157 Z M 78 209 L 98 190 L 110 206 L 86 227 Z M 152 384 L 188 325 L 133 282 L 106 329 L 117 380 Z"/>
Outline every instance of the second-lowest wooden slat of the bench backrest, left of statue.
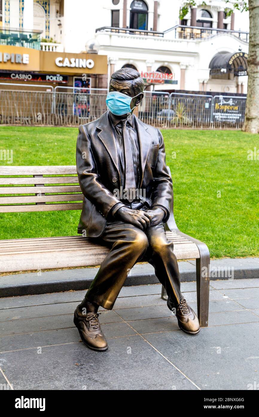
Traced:
<path fill-rule="evenodd" d="M 35 187 L 36 188 L 36 187 Z M 46 201 L 80 201 L 83 194 L 54 194 L 50 196 L 0 197 L 0 204 L 45 203 Z"/>

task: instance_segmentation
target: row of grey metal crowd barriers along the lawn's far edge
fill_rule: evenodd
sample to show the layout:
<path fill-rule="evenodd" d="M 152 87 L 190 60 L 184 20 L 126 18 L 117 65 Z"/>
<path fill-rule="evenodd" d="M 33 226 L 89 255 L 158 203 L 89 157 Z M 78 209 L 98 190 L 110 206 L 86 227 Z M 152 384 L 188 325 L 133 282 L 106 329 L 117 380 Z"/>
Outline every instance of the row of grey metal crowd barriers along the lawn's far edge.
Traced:
<path fill-rule="evenodd" d="M 0 83 L 1 124 L 78 126 L 106 111 L 107 89 L 29 88 L 26 84 L 26 90 L 6 89 Z M 245 104 L 246 97 L 145 91 L 135 113 L 158 128 L 239 129 Z"/>

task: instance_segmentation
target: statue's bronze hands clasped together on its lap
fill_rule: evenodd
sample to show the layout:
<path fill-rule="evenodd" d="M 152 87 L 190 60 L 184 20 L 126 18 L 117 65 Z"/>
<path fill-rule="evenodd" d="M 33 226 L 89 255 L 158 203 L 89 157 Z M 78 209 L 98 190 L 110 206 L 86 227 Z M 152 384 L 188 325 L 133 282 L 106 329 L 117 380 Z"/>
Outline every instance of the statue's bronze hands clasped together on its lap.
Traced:
<path fill-rule="evenodd" d="M 141 230 L 146 230 L 150 226 L 156 226 L 161 223 L 165 212 L 161 207 L 153 207 L 150 210 L 132 210 L 126 206 L 118 209 L 116 219 L 124 223 L 131 223 Z"/>

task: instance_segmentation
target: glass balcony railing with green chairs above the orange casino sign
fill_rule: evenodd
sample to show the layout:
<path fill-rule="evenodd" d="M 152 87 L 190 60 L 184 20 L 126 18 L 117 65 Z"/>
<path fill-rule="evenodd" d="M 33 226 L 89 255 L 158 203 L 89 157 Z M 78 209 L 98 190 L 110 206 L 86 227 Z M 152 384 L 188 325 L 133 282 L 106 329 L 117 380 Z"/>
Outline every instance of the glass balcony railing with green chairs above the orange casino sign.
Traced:
<path fill-rule="evenodd" d="M 0 28 L 0 45 L 24 46 L 40 49 L 40 31 Z"/>

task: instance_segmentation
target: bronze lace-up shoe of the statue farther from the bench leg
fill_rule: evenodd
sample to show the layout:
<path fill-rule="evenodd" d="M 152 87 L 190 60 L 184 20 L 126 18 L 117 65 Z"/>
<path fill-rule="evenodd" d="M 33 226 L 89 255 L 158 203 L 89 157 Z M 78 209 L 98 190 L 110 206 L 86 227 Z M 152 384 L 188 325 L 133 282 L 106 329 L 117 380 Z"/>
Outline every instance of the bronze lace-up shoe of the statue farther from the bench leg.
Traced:
<path fill-rule="evenodd" d="M 101 330 L 98 317 L 98 313 L 91 312 L 86 313 L 85 317 L 81 317 L 75 310 L 74 325 L 77 327 L 82 341 L 89 349 L 104 351 L 108 349 L 108 344 Z"/>

